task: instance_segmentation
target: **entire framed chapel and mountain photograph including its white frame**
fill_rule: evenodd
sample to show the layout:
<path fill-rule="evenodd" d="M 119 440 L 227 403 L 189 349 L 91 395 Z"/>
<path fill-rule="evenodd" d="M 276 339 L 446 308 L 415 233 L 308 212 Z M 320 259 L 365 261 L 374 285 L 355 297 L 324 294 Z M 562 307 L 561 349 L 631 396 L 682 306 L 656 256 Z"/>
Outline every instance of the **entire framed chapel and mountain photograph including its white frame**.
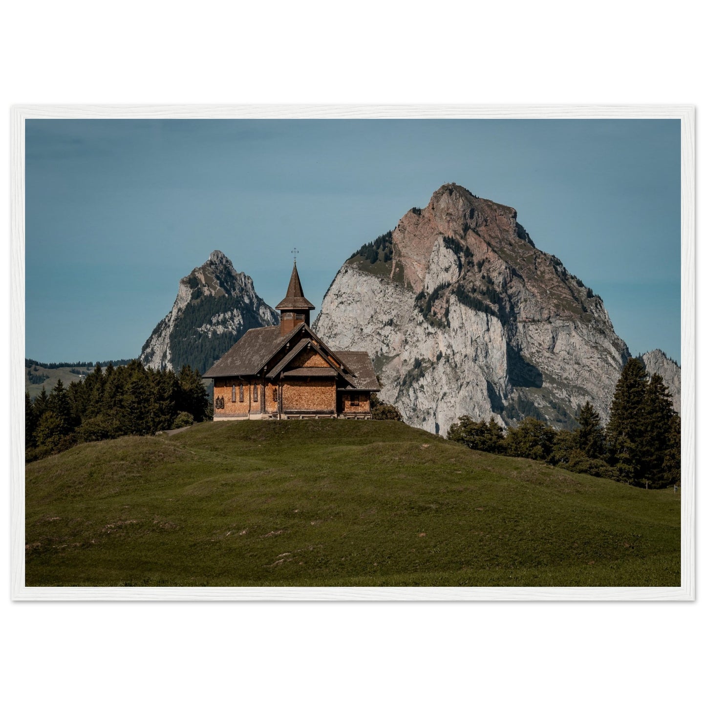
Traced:
<path fill-rule="evenodd" d="M 693 599 L 693 118 L 13 109 L 13 598 Z"/>

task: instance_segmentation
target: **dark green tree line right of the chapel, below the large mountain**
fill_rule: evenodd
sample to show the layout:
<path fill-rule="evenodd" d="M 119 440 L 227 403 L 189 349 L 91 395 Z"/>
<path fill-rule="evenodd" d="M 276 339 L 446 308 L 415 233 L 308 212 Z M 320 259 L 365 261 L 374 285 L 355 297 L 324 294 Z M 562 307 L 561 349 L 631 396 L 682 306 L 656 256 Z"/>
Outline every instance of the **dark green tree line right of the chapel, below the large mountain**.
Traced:
<path fill-rule="evenodd" d="M 580 407 L 573 431 L 557 431 L 525 417 L 503 431 L 494 420 L 460 417 L 447 438 L 480 451 L 544 461 L 577 473 L 648 488 L 681 479 L 681 417 L 672 407 L 662 376 L 647 375 L 645 364 L 630 358 L 623 368 L 605 427 L 590 402 Z"/>

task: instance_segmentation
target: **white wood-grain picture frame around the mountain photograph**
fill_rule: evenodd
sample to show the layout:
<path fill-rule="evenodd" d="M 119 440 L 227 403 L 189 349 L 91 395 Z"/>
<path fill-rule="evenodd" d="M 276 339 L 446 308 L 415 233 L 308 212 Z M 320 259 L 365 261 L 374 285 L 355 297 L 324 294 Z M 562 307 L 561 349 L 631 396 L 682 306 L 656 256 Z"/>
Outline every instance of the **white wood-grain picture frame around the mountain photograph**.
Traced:
<path fill-rule="evenodd" d="M 26 119 L 678 119 L 681 120 L 681 587 L 112 588 L 25 587 L 24 348 Z M 14 600 L 694 600 L 694 107 L 470 105 L 26 105 L 11 112 L 11 597 Z"/>

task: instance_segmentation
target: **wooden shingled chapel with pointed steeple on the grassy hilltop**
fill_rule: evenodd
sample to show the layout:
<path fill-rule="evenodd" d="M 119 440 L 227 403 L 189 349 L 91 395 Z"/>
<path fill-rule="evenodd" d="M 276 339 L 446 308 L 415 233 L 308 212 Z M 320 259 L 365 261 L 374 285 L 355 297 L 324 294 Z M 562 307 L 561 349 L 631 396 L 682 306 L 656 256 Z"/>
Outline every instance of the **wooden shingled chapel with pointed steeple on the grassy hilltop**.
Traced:
<path fill-rule="evenodd" d="M 378 381 L 364 351 L 333 351 L 311 328 L 294 261 L 280 324 L 251 328 L 203 375 L 213 379 L 213 419 L 371 419 Z"/>

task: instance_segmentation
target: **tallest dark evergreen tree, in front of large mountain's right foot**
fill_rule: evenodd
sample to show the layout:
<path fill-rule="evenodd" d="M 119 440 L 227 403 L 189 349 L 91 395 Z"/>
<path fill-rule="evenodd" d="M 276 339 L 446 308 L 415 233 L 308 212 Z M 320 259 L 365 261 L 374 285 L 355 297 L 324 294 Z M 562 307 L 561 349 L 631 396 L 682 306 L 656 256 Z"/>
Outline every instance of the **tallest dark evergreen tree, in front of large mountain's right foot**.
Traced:
<path fill-rule="evenodd" d="M 611 418 L 606 427 L 606 442 L 611 461 L 621 477 L 640 481 L 645 475 L 642 444 L 645 435 L 643 403 L 647 392 L 645 364 L 630 358 L 616 385 Z"/>

